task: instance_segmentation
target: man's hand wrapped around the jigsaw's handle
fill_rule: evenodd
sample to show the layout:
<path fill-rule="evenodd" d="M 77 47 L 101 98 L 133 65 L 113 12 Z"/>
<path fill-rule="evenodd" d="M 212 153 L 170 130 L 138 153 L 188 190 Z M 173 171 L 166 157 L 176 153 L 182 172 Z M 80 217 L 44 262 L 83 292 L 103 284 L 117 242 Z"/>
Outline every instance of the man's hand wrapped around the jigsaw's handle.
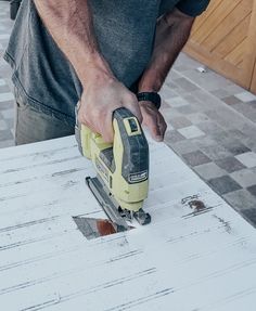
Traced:
<path fill-rule="evenodd" d="M 78 111 L 79 122 L 100 133 L 105 142 L 113 141 L 113 112 L 128 108 L 141 122 L 142 116 L 136 95 L 113 76 L 93 72 L 84 86 Z"/>

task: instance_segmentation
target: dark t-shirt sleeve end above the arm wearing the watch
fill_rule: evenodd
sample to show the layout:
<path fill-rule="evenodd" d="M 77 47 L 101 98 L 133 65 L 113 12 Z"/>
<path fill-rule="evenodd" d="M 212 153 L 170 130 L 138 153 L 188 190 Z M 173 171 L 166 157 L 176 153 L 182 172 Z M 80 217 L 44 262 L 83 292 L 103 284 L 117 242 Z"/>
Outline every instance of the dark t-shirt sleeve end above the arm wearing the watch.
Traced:
<path fill-rule="evenodd" d="M 176 8 L 190 16 L 202 14 L 208 7 L 210 0 L 180 0 Z"/>

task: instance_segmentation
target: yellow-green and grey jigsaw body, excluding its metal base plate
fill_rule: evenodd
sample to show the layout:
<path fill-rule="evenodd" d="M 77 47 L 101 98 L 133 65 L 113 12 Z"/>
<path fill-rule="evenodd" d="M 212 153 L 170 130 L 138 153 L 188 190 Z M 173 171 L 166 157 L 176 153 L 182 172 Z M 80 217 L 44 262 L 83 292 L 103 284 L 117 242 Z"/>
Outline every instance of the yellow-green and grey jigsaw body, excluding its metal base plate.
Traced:
<path fill-rule="evenodd" d="M 77 108 L 76 108 L 77 116 Z M 149 145 L 143 130 L 130 111 L 113 113 L 114 142 L 76 120 L 76 139 L 81 155 L 92 160 L 98 177 L 124 209 L 138 211 L 149 191 Z"/>

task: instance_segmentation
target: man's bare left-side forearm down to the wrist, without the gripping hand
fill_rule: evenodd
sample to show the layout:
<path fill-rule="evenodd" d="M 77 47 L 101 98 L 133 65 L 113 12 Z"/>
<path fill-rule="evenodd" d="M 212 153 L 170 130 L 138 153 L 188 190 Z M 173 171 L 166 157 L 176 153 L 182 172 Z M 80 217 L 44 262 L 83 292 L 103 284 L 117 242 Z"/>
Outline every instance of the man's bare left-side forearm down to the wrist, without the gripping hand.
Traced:
<path fill-rule="evenodd" d="M 37 11 L 59 48 L 74 66 L 84 83 L 90 69 L 111 69 L 100 54 L 87 0 L 34 0 Z"/>

